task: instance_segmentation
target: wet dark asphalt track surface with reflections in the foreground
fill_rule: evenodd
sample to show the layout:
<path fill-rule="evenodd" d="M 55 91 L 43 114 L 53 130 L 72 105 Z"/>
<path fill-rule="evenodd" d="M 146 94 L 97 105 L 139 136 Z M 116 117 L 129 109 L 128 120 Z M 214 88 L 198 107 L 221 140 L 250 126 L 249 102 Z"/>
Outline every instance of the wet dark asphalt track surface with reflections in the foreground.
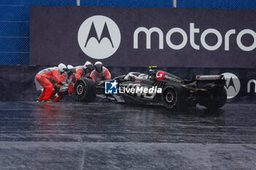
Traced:
<path fill-rule="evenodd" d="M 255 169 L 256 105 L 0 102 L 0 169 Z"/>

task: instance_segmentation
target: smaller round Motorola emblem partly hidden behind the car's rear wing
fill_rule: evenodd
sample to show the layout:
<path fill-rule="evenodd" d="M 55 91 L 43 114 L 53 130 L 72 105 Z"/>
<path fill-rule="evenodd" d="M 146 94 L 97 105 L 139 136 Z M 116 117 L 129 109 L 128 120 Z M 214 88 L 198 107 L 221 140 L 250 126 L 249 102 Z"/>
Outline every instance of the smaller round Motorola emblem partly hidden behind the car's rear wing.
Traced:
<path fill-rule="evenodd" d="M 227 99 L 234 98 L 240 91 L 240 80 L 232 73 L 223 73 L 222 75 L 224 75 L 226 80 L 225 89 L 227 90 Z"/>

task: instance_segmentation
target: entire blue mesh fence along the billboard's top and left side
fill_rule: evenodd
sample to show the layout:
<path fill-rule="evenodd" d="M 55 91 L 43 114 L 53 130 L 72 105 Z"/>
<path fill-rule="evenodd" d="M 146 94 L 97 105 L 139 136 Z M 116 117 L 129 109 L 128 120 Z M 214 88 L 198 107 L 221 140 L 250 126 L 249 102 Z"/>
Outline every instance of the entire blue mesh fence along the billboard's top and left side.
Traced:
<path fill-rule="evenodd" d="M 29 5 L 255 9 L 255 0 L 0 0 L 0 64 L 29 64 Z"/>

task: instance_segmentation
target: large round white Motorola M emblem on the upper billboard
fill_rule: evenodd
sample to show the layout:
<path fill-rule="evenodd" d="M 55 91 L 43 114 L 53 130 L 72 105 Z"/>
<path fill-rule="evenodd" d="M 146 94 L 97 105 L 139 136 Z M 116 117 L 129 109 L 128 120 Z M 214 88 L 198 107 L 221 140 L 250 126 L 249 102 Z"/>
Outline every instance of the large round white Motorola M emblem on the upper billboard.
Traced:
<path fill-rule="evenodd" d="M 78 44 L 91 58 L 108 58 L 118 50 L 121 33 L 116 23 L 108 17 L 95 15 L 86 19 L 78 30 Z"/>

